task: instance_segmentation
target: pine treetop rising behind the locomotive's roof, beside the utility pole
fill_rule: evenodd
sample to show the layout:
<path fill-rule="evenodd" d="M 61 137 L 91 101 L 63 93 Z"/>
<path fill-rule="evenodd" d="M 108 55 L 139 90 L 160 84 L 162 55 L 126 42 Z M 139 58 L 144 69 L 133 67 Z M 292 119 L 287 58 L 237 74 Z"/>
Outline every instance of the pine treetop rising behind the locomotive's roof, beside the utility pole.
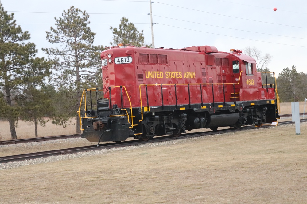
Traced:
<path fill-rule="evenodd" d="M 117 45 L 119 43 L 131 44 L 137 47 L 146 46 L 151 47 L 150 45 L 144 44 L 143 30 L 141 32 L 134 26 L 133 23 L 128 23 L 129 19 L 122 17 L 120 20 L 119 28 L 110 27 L 113 35 L 113 42 L 110 42 L 111 45 Z"/>

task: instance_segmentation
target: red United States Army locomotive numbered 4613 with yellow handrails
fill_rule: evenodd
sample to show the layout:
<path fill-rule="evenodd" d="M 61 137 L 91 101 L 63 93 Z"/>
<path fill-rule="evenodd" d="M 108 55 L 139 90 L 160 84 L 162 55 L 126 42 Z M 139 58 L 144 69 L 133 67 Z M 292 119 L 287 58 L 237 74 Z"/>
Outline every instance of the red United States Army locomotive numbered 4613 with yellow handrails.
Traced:
<path fill-rule="evenodd" d="M 101 53 L 101 62 L 103 90 L 84 90 L 78 112 L 90 142 L 176 137 L 279 118 L 275 80 L 262 85 L 256 61 L 239 50 L 116 46 Z"/>

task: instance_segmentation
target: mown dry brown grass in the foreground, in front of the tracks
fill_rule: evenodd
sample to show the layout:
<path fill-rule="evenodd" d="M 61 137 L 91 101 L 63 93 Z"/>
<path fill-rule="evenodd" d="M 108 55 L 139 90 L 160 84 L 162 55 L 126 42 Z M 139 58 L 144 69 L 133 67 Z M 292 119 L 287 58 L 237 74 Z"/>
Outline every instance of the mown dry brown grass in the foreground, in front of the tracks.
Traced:
<path fill-rule="evenodd" d="M 0 203 L 306 203 L 306 131 L 270 127 L 2 170 Z"/>

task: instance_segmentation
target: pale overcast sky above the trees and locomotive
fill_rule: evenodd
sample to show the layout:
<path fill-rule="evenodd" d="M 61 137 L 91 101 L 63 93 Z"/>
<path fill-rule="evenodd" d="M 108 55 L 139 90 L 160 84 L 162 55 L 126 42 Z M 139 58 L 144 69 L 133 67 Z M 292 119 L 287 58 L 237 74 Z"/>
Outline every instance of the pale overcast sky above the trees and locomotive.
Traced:
<path fill-rule="evenodd" d="M 149 0 L 1 0 L 8 13 L 30 41 L 39 49 L 52 47 L 46 31 L 55 27 L 54 17 L 61 17 L 71 6 L 90 15 L 90 27 L 96 33 L 95 45 L 110 46 L 110 26 L 119 27 L 126 17 L 139 31 L 144 30 L 146 43 L 151 41 Z M 274 11 L 274 7 L 277 11 Z M 158 0 L 152 3 L 155 47 L 184 48 L 215 46 L 219 51 L 256 47 L 273 56 L 268 64 L 280 73 L 293 65 L 306 70 L 307 1 L 305 0 Z"/>

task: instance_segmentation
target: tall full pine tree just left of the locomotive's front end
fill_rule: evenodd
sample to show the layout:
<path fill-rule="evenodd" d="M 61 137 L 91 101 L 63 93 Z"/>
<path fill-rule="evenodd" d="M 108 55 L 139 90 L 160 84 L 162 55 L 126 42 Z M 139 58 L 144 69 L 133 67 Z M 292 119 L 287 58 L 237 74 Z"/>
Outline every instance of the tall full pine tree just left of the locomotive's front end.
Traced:
<path fill-rule="evenodd" d="M 63 124 L 71 113 L 74 113 L 79 121 L 76 111 L 82 94 L 82 83 L 96 76 L 96 70 L 100 68 L 100 52 L 103 46 L 93 46 L 95 33 L 91 32 L 89 15 L 74 6 L 64 10 L 62 17 L 56 18 L 56 28 L 51 27 L 47 33 L 47 39 L 52 44 L 59 45 L 55 48 L 45 48 L 43 52 L 56 60 L 56 83 L 62 90 L 69 90 L 72 100 L 62 117 L 54 122 Z M 72 111 L 73 110 L 73 111 Z M 64 122 L 65 123 L 65 122 Z M 80 125 L 77 122 L 77 133 L 80 133 Z"/>

